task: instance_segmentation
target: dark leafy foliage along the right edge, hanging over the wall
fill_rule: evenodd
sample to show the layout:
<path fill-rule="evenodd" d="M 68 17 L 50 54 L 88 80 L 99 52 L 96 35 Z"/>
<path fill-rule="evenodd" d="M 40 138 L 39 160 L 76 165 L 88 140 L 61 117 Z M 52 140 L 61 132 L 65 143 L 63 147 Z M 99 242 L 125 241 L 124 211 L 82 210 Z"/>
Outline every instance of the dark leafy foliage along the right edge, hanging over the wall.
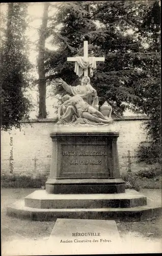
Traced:
<path fill-rule="evenodd" d="M 133 102 L 133 111 L 150 117 L 145 122 L 150 145 L 141 146 L 139 155 L 151 163 L 161 159 L 161 78 L 160 78 L 160 6 L 153 1 L 145 12 L 144 22 L 139 28 L 139 37 L 144 38 L 148 48 L 144 54 L 151 58 L 141 59 L 139 77 L 133 77 L 132 84 L 138 100 Z"/>

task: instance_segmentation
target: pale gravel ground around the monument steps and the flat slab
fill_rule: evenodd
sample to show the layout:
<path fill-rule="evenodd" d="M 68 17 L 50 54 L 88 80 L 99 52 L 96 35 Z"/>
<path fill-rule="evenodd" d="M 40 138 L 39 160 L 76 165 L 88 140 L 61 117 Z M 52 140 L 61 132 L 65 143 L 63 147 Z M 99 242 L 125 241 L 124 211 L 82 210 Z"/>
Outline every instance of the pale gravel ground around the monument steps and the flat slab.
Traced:
<path fill-rule="evenodd" d="M 35 190 L 26 188 L 3 188 L 1 190 L 3 256 L 56 254 L 56 248 L 53 251 L 49 250 L 49 243 L 47 244 L 55 222 L 21 220 L 6 215 L 7 205 L 31 194 Z M 161 202 L 160 189 L 142 189 L 140 193 L 156 200 L 159 204 Z M 121 253 L 162 252 L 161 216 L 141 222 L 117 221 L 116 223 L 123 244 Z"/>

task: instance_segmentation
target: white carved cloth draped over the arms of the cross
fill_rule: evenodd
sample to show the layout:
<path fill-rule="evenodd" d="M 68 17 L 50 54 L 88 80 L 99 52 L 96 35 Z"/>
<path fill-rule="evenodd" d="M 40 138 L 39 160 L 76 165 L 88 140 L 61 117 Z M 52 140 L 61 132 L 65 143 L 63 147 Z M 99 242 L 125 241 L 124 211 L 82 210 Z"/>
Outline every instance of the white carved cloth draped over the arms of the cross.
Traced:
<path fill-rule="evenodd" d="M 76 56 L 74 72 L 78 77 L 82 76 L 85 69 L 90 68 L 90 77 L 93 76 L 93 72 L 96 70 L 96 57 L 89 57 L 89 61 L 85 61 L 84 57 Z"/>

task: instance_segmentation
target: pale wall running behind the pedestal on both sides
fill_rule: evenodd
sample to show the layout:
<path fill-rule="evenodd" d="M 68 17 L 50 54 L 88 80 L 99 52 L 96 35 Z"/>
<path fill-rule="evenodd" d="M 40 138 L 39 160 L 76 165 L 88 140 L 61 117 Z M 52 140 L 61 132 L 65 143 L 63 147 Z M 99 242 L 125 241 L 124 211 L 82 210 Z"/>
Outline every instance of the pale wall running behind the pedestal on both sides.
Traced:
<path fill-rule="evenodd" d="M 137 151 L 141 141 L 146 139 L 146 131 L 141 127 L 146 117 L 124 117 L 114 121 L 114 130 L 120 133 L 118 153 L 121 173 L 128 167 L 136 172 L 147 167 L 137 163 Z M 23 122 L 22 130 L 11 134 L 1 133 L 1 170 L 6 175 L 26 175 L 33 178 L 47 177 L 50 169 L 51 138 L 55 119 L 31 120 Z M 131 158 L 128 158 L 130 151 Z M 128 161 L 128 159 L 130 161 Z"/>

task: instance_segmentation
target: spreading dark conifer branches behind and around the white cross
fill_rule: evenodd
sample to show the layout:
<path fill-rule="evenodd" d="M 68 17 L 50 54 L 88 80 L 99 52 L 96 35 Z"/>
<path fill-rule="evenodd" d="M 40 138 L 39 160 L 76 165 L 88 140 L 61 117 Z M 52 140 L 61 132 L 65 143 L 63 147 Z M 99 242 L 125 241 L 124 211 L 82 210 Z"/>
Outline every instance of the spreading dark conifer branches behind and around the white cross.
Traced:
<path fill-rule="evenodd" d="M 113 114 L 122 115 L 126 108 L 122 102 L 133 103 L 140 99 L 137 84 L 132 80 L 134 76 L 140 79 L 141 58 L 152 58 L 144 52 L 141 38 L 136 35 L 149 6 L 147 1 L 62 3 L 50 24 L 51 43 L 58 50 L 46 50 L 46 79 L 62 77 L 76 85 L 74 65 L 67 62 L 67 57 L 83 56 L 83 42 L 88 40 L 90 56 L 105 56 L 104 63 L 97 63 L 97 71 L 91 79 L 99 103 L 107 100 L 113 107 Z M 129 29 L 134 33 L 128 34 Z M 56 93 L 60 92 L 61 88 L 57 89 Z"/>

